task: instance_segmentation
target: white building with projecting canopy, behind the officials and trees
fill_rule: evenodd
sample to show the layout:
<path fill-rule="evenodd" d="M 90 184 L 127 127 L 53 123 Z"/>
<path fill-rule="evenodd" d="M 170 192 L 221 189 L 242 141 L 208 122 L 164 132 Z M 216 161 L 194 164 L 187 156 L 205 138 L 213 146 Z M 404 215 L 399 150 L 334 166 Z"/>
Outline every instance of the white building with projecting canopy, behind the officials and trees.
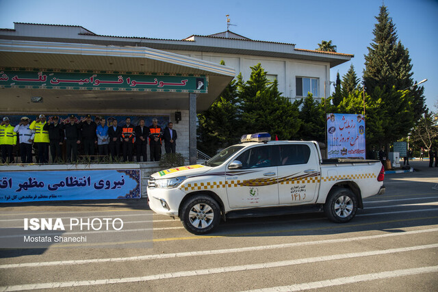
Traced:
<path fill-rule="evenodd" d="M 180 112 L 181 121 L 174 124 L 179 133 L 177 152 L 193 163 L 196 113 L 207 109 L 240 72 L 248 80 L 250 66 L 261 63 L 268 79 L 276 79 L 279 91 L 291 101 L 307 96 L 307 92 L 322 98 L 330 95 L 330 68 L 351 57 L 297 49 L 295 44 L 250 40 L 231 31 L 163 40 L 102 36 L 81 26 L 14 23 L 14 29 L 0 29 L 0 70 L 25 70 L 35 75 L 41 71 L 49 77 L 50 72 L 120 75 L 126 86 L 117 90 L 92 85 L 49 88 L 46 83 L 0 82 L 0 115 L 167 116 L 164 122 L 175 122 L 175 112 Z M 226 66 L 219 65 L 222 60 Z M 127 84 L 133 79 L 130 75 L 205 77 L 208 86 L 205 91 L 141 91 Z M 39 97 L 41 103 L 31 101 Z"/>

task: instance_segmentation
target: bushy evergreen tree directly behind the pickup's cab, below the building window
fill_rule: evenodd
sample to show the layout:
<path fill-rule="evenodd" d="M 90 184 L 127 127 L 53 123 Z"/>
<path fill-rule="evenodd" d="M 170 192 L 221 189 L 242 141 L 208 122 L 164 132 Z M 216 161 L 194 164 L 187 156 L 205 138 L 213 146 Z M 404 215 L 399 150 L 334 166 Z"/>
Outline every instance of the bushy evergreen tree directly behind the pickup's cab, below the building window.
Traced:
<path fill-rule="evenodd" d="M 270 82 L 261 64 L 251 67 L 250 79 L 237 80 L 242 132 L 268 132 L 280 140 L 294 137 L 300 127 L 298 104 L 281 96 L 277 81 Z"/>

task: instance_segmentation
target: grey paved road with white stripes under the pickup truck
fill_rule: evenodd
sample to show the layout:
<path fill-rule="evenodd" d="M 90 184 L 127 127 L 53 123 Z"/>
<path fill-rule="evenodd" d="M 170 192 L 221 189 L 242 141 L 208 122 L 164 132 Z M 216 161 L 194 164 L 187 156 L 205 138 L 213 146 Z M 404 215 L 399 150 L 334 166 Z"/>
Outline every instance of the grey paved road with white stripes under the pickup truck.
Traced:
<path fill-rule="evenodd" d="M 329 222 L 322 213 L 235 219 L 209 236 L 194 236 L 178 220 L 149 214 L 152 248 L 0 250 L 0 291 L 437 291 L 438 168 L 411 163 L 420 171 L 388 174 L 387 193 L 365 200 L 348 224 Z M 49 216 L 143 210 L 144 204 L 84 201 L 1 210 Z"/>

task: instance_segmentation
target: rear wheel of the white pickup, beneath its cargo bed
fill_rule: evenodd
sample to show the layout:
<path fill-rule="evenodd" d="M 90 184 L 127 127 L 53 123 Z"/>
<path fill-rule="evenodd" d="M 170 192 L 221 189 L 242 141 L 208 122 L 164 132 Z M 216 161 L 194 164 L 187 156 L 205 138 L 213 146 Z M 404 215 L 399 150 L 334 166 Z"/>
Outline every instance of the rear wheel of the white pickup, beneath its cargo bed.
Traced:
<path fill-rule="evenodd" d="M 350 189 L 339 188 L 331 191 L 324 204 L 324 213 L 329 220 L 346 223 L 355 217 L 357 198 Z"/>

